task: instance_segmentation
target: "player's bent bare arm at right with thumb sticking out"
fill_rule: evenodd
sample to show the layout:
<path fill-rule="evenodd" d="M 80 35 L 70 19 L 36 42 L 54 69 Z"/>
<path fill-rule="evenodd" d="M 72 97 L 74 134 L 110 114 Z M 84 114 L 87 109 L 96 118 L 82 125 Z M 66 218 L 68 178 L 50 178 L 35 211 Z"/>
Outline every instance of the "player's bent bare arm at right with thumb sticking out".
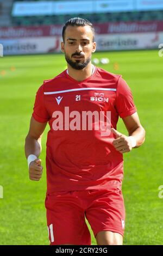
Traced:
<path fill-rule="evenodd" d="M 111 129 L 111 132 L 116 135 L 116 139 L 113 141 L 114 147 L 123 154 L 131 151 L 132 148 L 139 148 L 145 141 L 146 132 L 140 123 L 137 112 L 122 119 L 129 136 L 123 135 L 114 128 Z"/>

